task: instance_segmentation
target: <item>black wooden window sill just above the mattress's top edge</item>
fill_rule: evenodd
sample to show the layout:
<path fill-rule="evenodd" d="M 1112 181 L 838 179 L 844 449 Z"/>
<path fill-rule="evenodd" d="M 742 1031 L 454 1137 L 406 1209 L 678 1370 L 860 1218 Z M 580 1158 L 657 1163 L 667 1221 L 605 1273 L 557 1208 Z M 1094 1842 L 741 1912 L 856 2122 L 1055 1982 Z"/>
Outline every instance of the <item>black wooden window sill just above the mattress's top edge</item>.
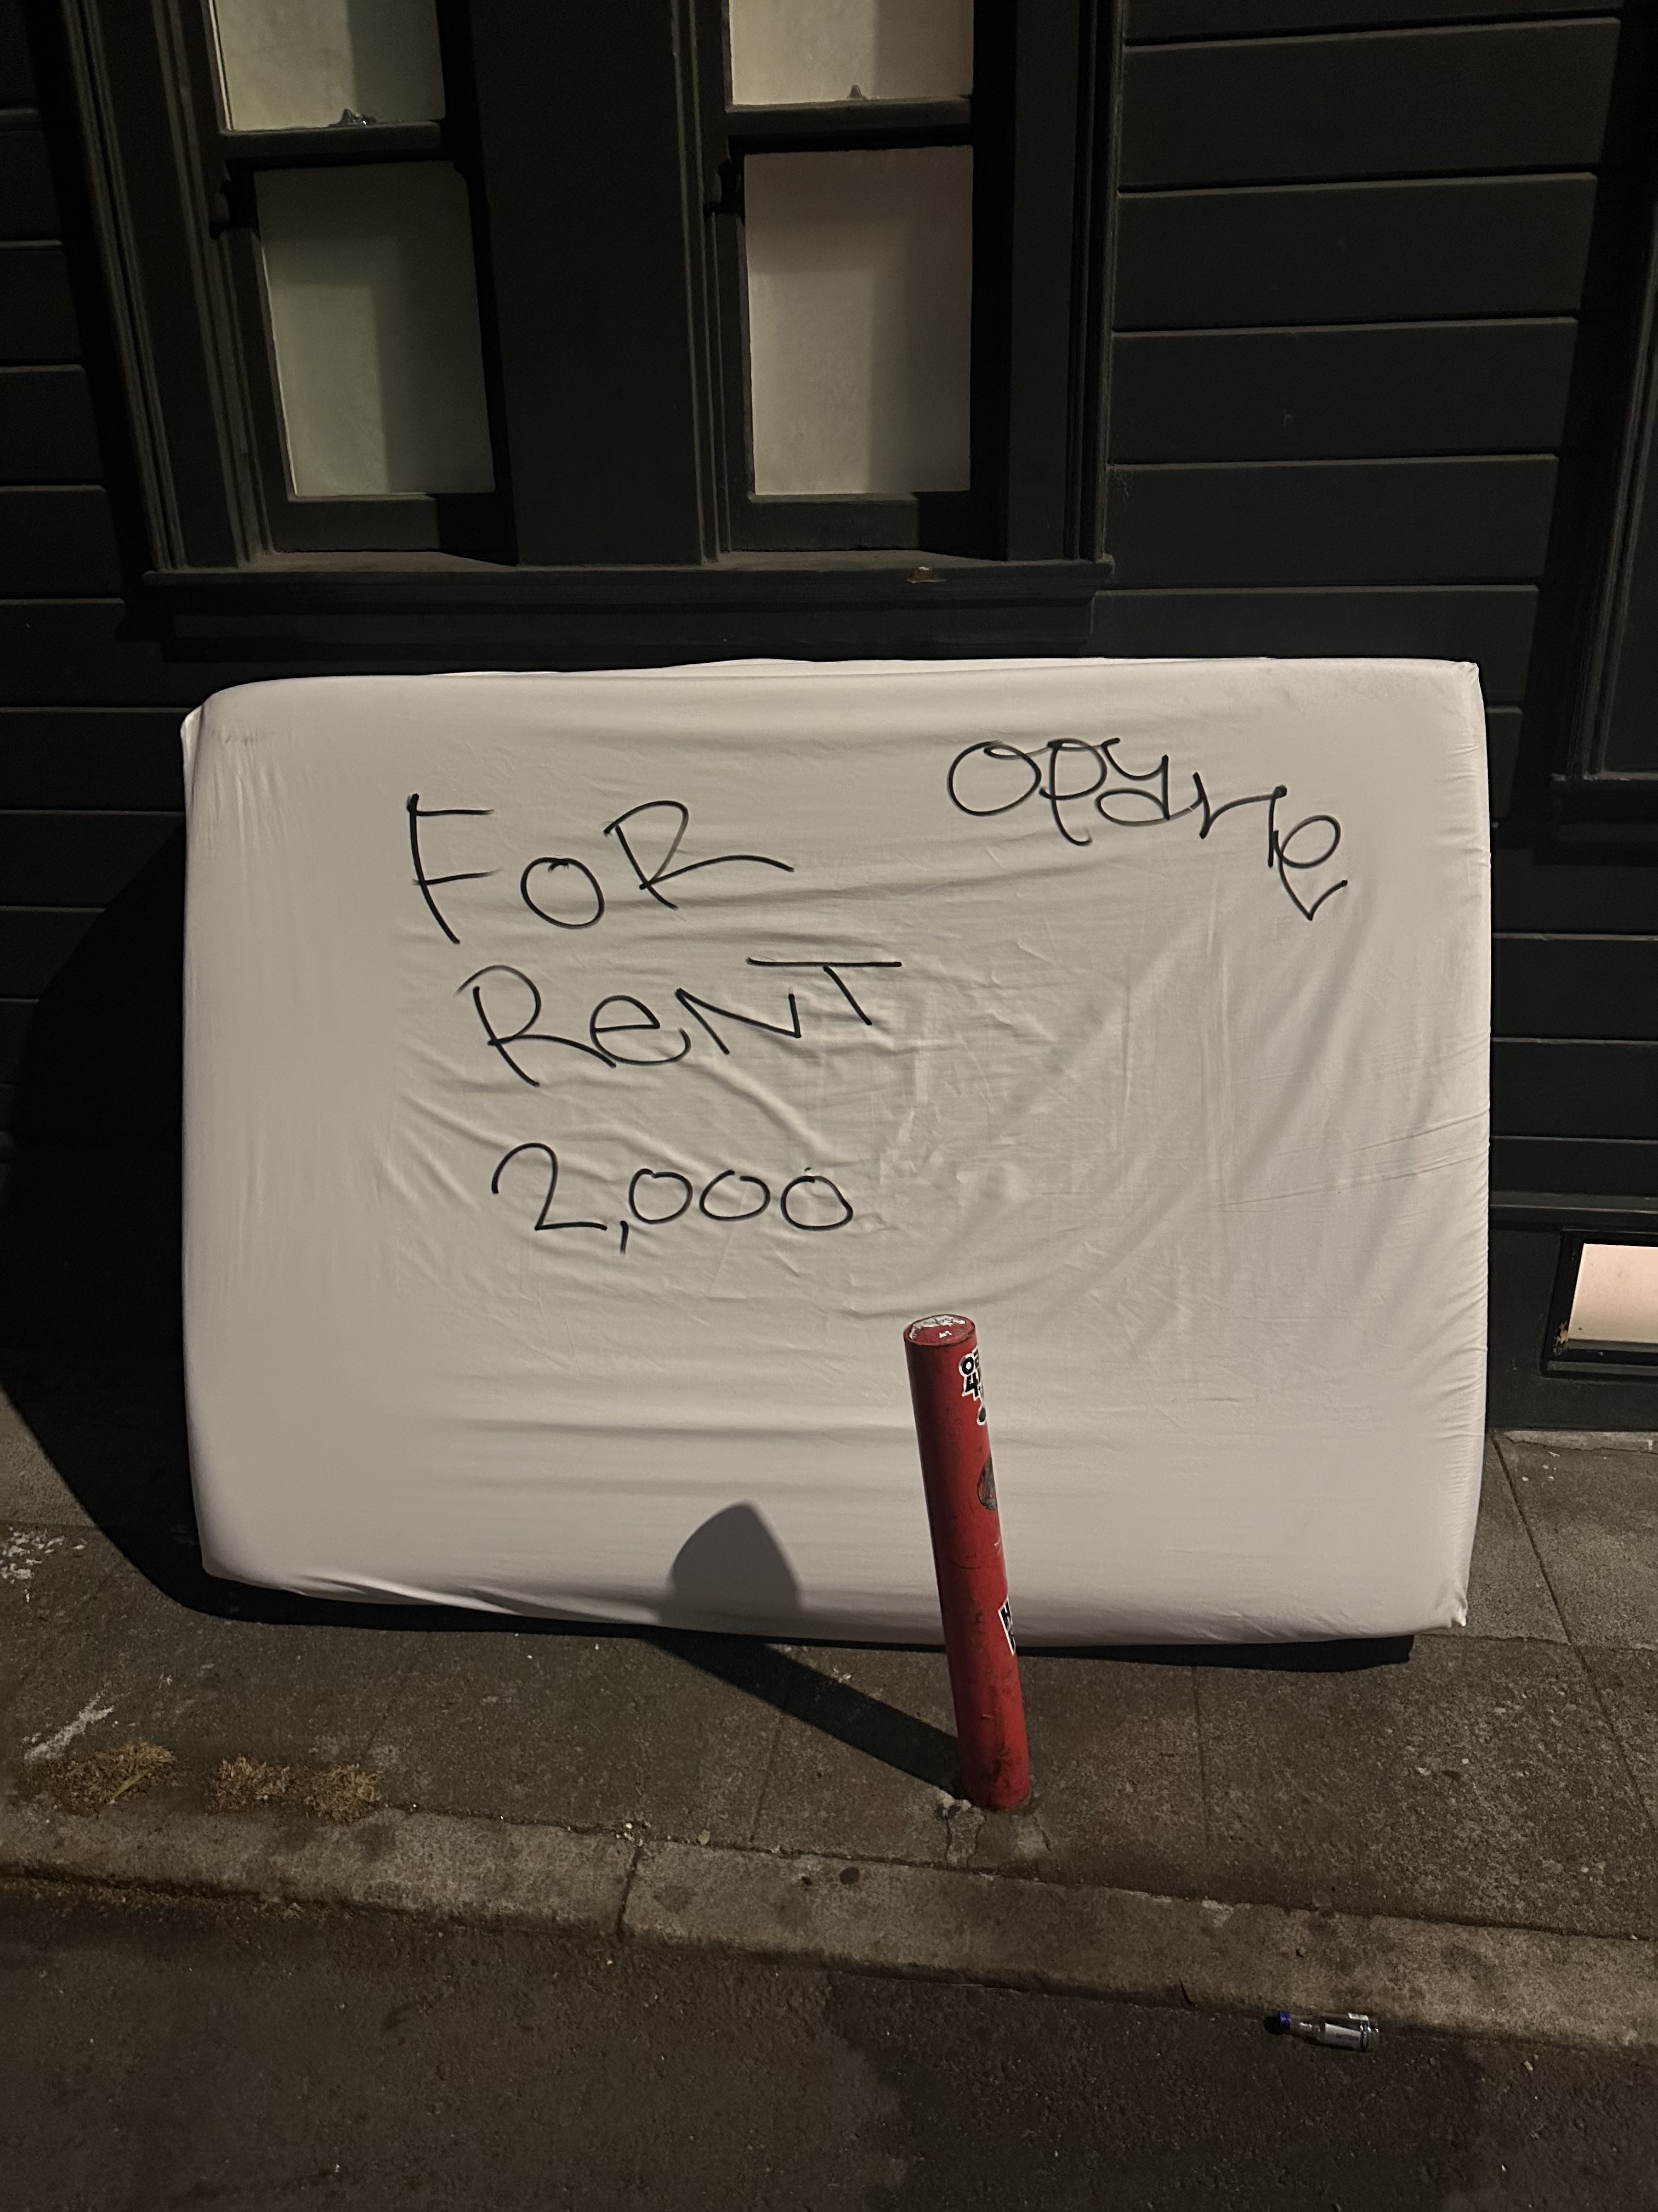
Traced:
<path fill-rule="evenodd" d="M 497 568 L 396 553 L 150 573 L 137 617 L 177 659 L 601 668 L 1083 653 L 1110 562 L 747 553 L 703 568 Z"/>

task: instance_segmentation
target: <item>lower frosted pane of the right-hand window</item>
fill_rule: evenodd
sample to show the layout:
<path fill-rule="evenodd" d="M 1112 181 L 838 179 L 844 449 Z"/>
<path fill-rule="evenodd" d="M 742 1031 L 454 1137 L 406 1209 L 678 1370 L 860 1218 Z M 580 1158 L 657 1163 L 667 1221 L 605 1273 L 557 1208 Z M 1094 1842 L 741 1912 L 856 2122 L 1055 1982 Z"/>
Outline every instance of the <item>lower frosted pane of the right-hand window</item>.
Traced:
<path fill-rule="evenodd" d="M 966 491 L 973 148 L 743 166 L 754 489 Z"/>

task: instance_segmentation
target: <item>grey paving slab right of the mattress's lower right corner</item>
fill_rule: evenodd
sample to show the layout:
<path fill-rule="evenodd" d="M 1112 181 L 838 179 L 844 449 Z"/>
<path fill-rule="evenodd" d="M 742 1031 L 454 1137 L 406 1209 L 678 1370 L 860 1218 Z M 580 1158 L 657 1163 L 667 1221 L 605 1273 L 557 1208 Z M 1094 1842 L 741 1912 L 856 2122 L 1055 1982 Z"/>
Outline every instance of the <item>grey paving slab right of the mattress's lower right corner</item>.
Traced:
<path fill-rule="evenodd" d="M 1514 1436 L 1501 1453 L 1572 1641 L 1658 1650 L 1658 1458 Z"/>

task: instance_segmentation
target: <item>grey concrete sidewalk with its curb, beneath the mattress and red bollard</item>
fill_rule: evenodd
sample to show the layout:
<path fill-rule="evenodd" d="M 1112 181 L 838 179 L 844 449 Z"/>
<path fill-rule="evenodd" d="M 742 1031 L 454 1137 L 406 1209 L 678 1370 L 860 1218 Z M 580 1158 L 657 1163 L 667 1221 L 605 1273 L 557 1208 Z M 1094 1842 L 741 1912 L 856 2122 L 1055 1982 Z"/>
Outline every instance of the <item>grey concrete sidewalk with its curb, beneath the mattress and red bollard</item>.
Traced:
<path fill-rule="evenodd" d="M 141 1398 L 175 1387 L 42 1374 L 0 1438 L 0 1871 L 1658 2042 L 1649 1438 L 1492 1440 L 1463 1632 L 1030 1655 L 1039 1796 L 982 1816 L 937 1652 L 212 1582 Z M 64 1761 L 135 1739 L 159 1778 L 53 1803 Z M 237 1759 L 367 1770 L 387 1812 L 214 1809 Z"/>

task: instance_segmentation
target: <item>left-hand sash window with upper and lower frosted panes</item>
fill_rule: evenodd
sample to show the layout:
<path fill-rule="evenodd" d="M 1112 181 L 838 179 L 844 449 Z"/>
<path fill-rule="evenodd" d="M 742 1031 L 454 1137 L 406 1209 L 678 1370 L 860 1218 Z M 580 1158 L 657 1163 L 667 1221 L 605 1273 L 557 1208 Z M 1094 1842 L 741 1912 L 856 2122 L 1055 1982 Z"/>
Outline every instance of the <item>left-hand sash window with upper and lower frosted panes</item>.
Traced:
<path fill-rule="evenodd" d="M 203 0 L 177 20 L 265 542 L 506 555 L 475 133 L 449 119 L 433 0 Z"/>

